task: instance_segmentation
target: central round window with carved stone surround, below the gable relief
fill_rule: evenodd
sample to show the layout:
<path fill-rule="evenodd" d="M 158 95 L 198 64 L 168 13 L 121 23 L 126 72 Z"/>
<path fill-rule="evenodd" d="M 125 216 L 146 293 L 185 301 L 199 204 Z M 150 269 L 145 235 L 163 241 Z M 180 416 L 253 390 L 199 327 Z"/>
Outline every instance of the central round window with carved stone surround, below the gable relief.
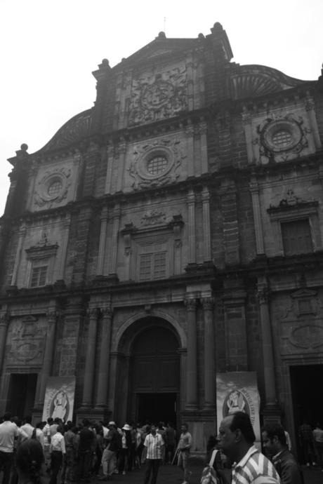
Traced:
<path fill-rule="evenodd" d="M 128 173 L 133 178 L 131 186 L 135 190 L 162 187 L 176 182 L 180 176 L 180 164 L 185 156 L 176 138 L 163 138 L 143 144 L 133 149 L 133 161 Z"/>

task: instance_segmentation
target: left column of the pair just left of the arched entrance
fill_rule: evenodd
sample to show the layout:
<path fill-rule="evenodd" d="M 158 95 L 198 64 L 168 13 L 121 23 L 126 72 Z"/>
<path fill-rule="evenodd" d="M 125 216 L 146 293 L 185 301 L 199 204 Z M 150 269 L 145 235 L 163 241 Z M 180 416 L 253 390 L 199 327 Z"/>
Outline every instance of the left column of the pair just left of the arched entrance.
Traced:
<path fill-rule="evenodd" d="M 88 338 L 86 341 L 85 373 L 81 408 L 91 408 L 92 406 L 96 332 L 98 326 L 98 309 L 96 307 L 89 309 L 88 318 Z"/>

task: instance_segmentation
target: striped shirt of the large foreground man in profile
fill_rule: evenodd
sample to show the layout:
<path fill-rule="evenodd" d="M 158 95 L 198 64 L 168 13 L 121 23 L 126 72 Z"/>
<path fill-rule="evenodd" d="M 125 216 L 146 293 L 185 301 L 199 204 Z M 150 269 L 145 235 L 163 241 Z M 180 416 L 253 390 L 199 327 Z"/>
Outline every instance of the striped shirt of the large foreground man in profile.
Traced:
<path fill-rule="evenodd" d="M 280 484 L 275 467 L 254 445 L 240 462 L 232 467 L 232 484 L 251 483 Z"/>

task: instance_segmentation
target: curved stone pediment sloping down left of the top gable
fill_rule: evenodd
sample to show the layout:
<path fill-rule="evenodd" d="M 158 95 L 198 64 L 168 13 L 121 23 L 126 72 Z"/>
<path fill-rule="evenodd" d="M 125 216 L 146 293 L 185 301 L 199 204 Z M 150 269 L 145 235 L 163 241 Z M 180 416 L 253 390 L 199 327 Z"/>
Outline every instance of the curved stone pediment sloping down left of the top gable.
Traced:
<path fill-rule="evenodd" d="M 91 109 L 73 116 L 67 123 L 63 124 L 51 140 L 39 151 L 51 152 L 81 141 L 84 137 L 91 134 L 91 120 Z"/>

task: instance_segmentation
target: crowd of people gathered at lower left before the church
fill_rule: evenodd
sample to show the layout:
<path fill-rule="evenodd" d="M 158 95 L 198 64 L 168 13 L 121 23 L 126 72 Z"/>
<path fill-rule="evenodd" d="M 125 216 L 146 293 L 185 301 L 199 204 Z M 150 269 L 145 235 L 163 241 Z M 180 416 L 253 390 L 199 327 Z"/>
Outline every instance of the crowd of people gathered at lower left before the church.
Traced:
<path fill-rule="evenodd" d="M 58 417 L 49 417 L 47 422 L 32 426 L 31 417 L 25 417 L 20 422 L 18 417 L 6 413 L 0 424 L 3 484 L 18 484 L 18 456 L 24 449 L 29 456 L 25 457 L 25 461 L 31 459 L 33 464 L 28 469 L 26 464 L 22 468 L 25 473 L 28 470 L 28 482 L 32 484 L 39 483 L 42 468 L 48 473 L 49 484 L 58 484 L 59 473 L 60 484 L 89 483 L 91 476 L 110 480 L 113 474 L 140 469 L 145 461 L 145 483 L 152 474 L 153 484 L 159 463 L 173 462 L 176 431 L 171 422 L 159 422 L 157 426 L 129 422 L 120 428 L 114 421 L 90 422 L 84 419 L 81 424 L 74 425 L 62 422 Z M 180 465 L 185 468 L 185 462 Z M 21 479 L 20 484 L 23 484 Z"/>

